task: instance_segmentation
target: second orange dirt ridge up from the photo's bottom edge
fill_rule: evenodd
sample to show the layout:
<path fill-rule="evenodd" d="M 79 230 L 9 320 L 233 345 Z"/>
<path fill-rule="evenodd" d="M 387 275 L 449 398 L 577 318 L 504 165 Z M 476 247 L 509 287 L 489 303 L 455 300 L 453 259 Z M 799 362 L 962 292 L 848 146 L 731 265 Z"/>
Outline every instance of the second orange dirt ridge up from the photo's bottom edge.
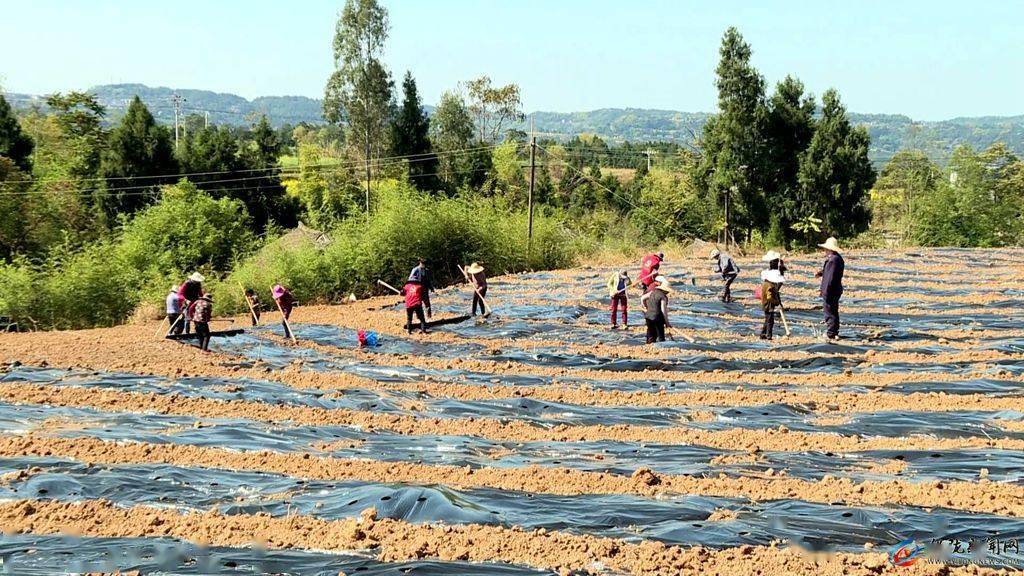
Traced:
<path fill-rule="evenodd" d="M 717 478 L 659 475 L 647 468 L 631 477 L 565 467 L 471 468 L 411 462 L 379 462 L 312 454 L 238 452 L 222 448 L 148 443 L 111 443 L 91 438 L 0 437 L 0 456 L 71 458 L 90 464 L 165 463 L 244 471 L 276 472 L 311 480 L 359 480 L 440 484 L 456 489 L 494 488 L 559 495 L 699 494 L 754 501 L 801 499 L 848 505 L 908 505 L 1024 517 L 1024 486 L 979 482 L 904 480 L 853 482 L 826 476 L 819 481 L 785 477 Z"/>

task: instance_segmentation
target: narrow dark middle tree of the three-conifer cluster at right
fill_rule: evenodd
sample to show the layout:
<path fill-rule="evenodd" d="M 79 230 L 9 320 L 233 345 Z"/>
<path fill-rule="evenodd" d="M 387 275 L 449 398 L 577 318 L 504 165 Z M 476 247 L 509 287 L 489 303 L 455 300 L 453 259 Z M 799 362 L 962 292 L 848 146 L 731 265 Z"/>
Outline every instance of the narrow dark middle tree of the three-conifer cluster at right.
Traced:
<path fill-rule="evenodd" d="M 799 214 L 800 155 L 814 136 L 814 96 L 804 94 L 804 84 L 786 76 L 768 100 L 764 125 L 765 203 L 772 229 L 786 243 Z"/>

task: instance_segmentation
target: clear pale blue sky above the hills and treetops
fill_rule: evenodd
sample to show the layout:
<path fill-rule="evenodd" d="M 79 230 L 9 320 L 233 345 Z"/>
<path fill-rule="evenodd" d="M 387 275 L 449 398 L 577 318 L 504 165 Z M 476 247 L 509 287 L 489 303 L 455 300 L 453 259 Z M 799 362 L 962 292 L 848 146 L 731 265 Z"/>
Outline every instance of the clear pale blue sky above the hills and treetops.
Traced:
<path fill-rule="evenodd" d="M 318 97 L 343 0 L 11 0 L 0 85 L 47 93 L 140 82 Z M 386 61 L 424 100 L 481 74 L 526 111 L 715 109 L 728 26 L 769 83 L 850 110 L 939 120 L 1024 114 L 1024 0 L 382 0 Z"/>

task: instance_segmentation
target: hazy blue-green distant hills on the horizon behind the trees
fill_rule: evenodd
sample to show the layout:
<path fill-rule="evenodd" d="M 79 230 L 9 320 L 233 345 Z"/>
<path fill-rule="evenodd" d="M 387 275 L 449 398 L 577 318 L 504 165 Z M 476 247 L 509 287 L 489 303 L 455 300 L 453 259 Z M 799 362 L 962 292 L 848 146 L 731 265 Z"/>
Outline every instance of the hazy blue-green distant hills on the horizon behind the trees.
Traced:
<path fill-rule="evenodd" d="M 210 115 L 216 124 L 250 124 L 260 114 L 266 114 L 274 126 L 308 122 L 323 123 L 321 100 L 306 96 L 261 96 L 252 100 L 236 94 L 209 90 L 175 90 L 152 88 L 142 84 L 109 84 L 89 89 L 110 112 L 112 120 L 122 114 L 131 98 L 138 94 L 153 115 L 162 122 L 174 121 L 171 96 L 176 92 L 185 98 L 185 114 Z M 42 99 L 28 94 L 8 93 L 7 98 L 18 109 L 41 106 Z M 428 112 L 433 110 L 427 107 Z M 647 109 L 602 109 L 590 112 L 536 112 L 537 131 L 555 138 L 570 138 L 575 134 L 592 133 L 611 141 L 669 140 L 692 142 L 700 133 L 710 114 Z M 909 117 L 891 114 L 855 114 L 851 120 L 867 127 L 871 134 L 871 159 L 881 164 L 897 151 L 906 148 L 923 150 L 934 160 L 944 162 L 949 153 L 962 143 L 975 149 L 1002 141 L 1015 153 L 1024 156 L 1024 116 L 954 118 L 939 122 L 919 122 Z M 528 129 L 528 123 L 518 126 Z"/>

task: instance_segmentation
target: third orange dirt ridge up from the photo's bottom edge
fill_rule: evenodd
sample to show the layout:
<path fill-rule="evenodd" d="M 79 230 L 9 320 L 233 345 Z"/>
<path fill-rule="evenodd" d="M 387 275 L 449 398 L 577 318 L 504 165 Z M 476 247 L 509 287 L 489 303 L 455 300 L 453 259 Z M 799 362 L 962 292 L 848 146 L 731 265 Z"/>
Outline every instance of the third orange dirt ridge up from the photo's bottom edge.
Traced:
<path fill-rule="evenodd" d="M 863 452 L 868 450 L 1024 450 L 1024 440 L 1012 438 L 859 437 L 777 428 L 706 430 L 678 426 L 632 424 L 558 424 L 547 428 L 524 420 L 463 417 L 434 418 L 371 411 L 278 406 L 241 400 L 188 398 L 180 395 L 128 393 L 74 386 L 7 383 L 0 400 L 8 403 L 90 408 L 106 412 L 157 413 L 194 418 L 246 418 L 301 425 L 356 426 L 404 436 L 472 436 L 496 442 L 637 442 L 696 445 L 720 450 L 771 452 Z"/>

